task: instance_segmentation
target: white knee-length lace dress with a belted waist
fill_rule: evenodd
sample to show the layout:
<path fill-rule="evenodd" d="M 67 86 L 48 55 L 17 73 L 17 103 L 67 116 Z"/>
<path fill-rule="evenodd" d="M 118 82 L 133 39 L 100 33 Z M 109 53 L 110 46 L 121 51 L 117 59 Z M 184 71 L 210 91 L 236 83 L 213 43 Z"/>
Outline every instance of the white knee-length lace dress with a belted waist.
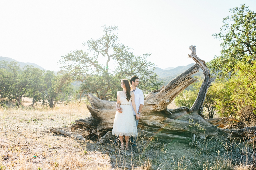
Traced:
<path fill-rule="evenodd" d="M 130 94 L 132 95 L 133 91 L 131 91 Z M 116 111 L 115 113 L 112 135 L 137 136 L 137 126 L 131 106 L 132 98 L 130 101 L 127 101 L 126 94 L 123 91 L 118 91 L 117 95 L 121 102 L 120 107 L 123 109 L 123 112 L 119 113 Z"/>

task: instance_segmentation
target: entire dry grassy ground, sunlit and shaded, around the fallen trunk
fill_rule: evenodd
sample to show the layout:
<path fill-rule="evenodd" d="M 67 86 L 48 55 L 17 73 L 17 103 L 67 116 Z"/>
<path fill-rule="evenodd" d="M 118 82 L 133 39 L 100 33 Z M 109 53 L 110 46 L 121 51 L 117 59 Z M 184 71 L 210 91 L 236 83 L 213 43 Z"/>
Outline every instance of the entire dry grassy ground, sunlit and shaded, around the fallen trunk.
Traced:
<path fill-rule="evenodd" d="M 137 138 L 137 149 L 96 145 L 49 133 L 49 127 L 69 130 L 76 119 L 90 115 L 84 103 L 47 107 L 0 108 L 0 170 L 4 169 L 252 169 L 254 149 L 228 147 L 212 138 L 196 148 L 182 143 L 161 143 Z M 85 135 L 86 132 L 80 130 Z M 229 144 L 230 145 L 230 144 Z M 237 160 L 240 160 L 237 161 Z"/>

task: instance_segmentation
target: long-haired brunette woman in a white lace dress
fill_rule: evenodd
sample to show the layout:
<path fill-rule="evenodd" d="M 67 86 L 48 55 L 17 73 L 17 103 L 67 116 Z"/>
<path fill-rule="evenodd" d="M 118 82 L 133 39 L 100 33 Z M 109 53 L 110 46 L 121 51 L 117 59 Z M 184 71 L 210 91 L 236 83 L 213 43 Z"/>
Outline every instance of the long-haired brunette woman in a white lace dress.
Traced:
<path fill-rule="evenodd" d="M 125 149 L 128 148 L 128 141 L 130 136 L 137 136 L 137 128 L 135 123 L 135 118 L 132 112 L 132 107 L 135 110 L 136 118 L 139 117 L 136 109 L 136 105 L 134 102 L 134 93 L 131 90 L 130 82 L 126 79 L 121 81 L 121 87 L 123 91 L 117 92 L 117 100 L 116 100 L 116 108 L 118 107 L 118 103 L 121 103 L 122 113 L 116 111 L 114 125 L 112 130 L 112 135 L 119 135 L 121 141 L 121 150 L 124 150 L 124 137 L 125 136 Z M 132 102 L 132 107 L 131 107 Z"/>

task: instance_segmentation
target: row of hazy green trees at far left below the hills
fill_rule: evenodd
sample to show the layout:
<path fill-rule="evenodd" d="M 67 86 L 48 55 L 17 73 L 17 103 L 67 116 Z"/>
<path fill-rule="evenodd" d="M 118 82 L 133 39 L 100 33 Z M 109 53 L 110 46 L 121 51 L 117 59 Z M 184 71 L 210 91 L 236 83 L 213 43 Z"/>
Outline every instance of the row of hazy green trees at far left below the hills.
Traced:
<path fill-rule="evenodd" d="M 26 65 L 20 68 L 17 62 L 0 61 L 1 102 L 16 100 L 19 107 L 23 97 L 33 98 L 33 104 L 48 101 L 53 107 L 55 101 L 64 100 L 71 92 L 71 80 L 65 71 L 44 71 Z"/>

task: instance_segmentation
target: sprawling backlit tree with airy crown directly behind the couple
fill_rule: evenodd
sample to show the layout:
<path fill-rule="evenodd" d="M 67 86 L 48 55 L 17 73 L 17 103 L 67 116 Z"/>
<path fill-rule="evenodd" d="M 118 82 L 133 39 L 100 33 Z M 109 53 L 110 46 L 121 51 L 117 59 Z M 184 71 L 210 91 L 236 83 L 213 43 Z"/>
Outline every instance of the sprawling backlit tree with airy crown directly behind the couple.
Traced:
<path fill-rule="evenodd" d="M 72 80 L 82 81 L 80 94 L 95 93 L 103 100 L 116 98 L 121 79 L 133 75 L 140 77 L 140 89 L 144 92 L 159 88 L 162 82 L 158 82 L 157 75 L 150 70 L 155 64 L 147 60 L 150 54 L 135 56 L 130 47 L 119 43 L 116 26 L 102 28 L 101 38 L 83 44 L 88 46 L 88 52 L 76 50 L 60 60 L 62 68 L 70 71 Z M 99 58 L 105 59 L 105 63 L 101 64 Z"/>

